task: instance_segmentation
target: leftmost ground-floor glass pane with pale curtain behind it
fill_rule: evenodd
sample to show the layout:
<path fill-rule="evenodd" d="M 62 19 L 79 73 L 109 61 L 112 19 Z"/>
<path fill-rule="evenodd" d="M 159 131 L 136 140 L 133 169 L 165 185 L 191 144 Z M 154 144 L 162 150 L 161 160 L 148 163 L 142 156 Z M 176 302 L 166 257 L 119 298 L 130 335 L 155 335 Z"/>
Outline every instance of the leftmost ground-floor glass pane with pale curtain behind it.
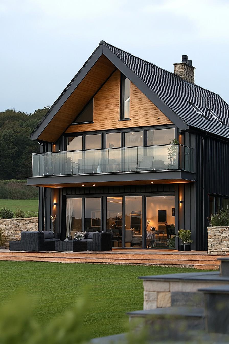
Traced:
<path fill-rule="evenodd" d="M 82 198 L 67 198 L 66 237 L 82 230 Z"/>

